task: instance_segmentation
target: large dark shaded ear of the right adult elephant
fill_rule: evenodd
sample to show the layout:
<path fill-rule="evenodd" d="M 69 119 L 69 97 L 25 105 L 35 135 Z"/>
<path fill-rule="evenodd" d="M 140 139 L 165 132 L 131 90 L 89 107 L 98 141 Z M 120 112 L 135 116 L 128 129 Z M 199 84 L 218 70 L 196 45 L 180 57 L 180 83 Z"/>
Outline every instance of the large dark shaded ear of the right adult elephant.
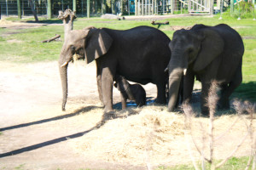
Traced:
<path fill-rule="evenodd" d="M 203 29 L 199 34 L 202 34 L 201 37 L 203 38 L 201 41 L 201 50 L 195 59 L 194 71 L 205 69 L 224 50 L 224 40 L 217 31 Z"/>

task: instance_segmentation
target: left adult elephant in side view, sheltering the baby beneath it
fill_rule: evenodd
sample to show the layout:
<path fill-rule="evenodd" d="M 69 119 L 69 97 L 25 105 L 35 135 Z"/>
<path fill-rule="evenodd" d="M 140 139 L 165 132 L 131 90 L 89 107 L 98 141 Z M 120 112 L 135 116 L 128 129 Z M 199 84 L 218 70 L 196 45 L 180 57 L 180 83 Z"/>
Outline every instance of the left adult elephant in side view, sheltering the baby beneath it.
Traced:
<path fill-rule="evenodd" d="M 157 102 L 166 104 L 165 68 L 171 57 L 171 40 L 153 27 L 138 26 L 126 31 L 87 27 L 69 31 L 63 44 L 59 68 L 63 90 L 62 111 L 67 102 L 67 66 L 73 55 L 90 63 L 96 59 L 97 88 L 104 111 L 113 111 L 113 81 L 116 75 L 131 82 L 157 86 Z"/>

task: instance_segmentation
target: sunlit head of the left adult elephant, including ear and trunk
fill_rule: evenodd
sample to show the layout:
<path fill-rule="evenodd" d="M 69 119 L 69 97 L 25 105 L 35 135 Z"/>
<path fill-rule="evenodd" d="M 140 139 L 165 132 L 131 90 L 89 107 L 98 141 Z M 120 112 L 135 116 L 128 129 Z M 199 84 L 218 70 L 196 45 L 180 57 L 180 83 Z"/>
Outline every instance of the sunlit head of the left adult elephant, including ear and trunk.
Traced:
<path fill-rule="evenodd" d="M 84 59 L 86 63 L 90 63 L 108 53 L 112 42 L 113 39 L 102 29 L 87 27 L 84 30 L 68 31 L 59 59 L 63 93 L 62 111 L 65 111 L 67 103 L 67 65 L 73 61 L 74 54 L 78 59 Z"/>

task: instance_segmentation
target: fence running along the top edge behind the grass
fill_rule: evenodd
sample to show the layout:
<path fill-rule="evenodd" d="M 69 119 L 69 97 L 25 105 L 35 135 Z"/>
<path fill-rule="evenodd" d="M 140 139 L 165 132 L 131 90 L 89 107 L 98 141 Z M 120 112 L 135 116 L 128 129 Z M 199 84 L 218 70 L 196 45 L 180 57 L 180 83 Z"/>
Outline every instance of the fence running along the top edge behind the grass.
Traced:
<path fill-rule="evenodd" d="M 213 2 L 212 2 L 213 1 Z M 150 14 L 217 14 L 230 6 L 234 0 L 90 0 L 90 16 L 102 14 L 150 15 Z M 250 0 L 252 1 L 252 0 Z M 253 0 L 253 3 L 256 0 Z M 47 14 L 48 0 L 32 0 L 39 16 Z M 103 4 L 103 5 L 102 5 Z M 0 14 L 17 15 L 17 0 L 0 0 Z M 28 0 L 20 0 L 22 17 L 32 15 Z M 51 13 L 58 15 L 58 11 L 73 9 L 73 0 L 52 0 Z M 76 14 L 87 16 L 87 0 L 76 0 Z"/>

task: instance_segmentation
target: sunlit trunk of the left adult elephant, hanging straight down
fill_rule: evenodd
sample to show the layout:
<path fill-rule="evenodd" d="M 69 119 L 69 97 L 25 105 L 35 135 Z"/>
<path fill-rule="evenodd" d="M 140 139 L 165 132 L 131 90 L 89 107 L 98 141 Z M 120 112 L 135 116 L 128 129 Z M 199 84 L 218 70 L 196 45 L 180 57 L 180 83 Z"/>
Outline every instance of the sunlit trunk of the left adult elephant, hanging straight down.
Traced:
<path fill-rule="evenodd" d="M 59 62 L 59 71 L 61 75 L 61 85 L 62 85 L 62 111 L 65 111 L 65 106 L 67 103 L 67 65 L 63 65 Z"/>

